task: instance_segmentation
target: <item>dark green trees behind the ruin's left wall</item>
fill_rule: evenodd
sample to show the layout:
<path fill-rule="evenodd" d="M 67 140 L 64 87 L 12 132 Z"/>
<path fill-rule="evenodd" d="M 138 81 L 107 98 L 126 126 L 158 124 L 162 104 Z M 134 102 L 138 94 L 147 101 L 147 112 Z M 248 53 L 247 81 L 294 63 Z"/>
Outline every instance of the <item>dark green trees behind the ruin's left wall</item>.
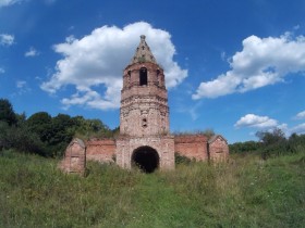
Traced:
<path fill-rule="evenodd" d="M 73 137 L 112 137 L 112 131 L 100 119 L 86 119 L 47 112 L 37 112 L 26 118 L 16 114 L 9 100 L 0 99 L 0 151 L 16 149 L 44 156 L 61 156 Z"/>

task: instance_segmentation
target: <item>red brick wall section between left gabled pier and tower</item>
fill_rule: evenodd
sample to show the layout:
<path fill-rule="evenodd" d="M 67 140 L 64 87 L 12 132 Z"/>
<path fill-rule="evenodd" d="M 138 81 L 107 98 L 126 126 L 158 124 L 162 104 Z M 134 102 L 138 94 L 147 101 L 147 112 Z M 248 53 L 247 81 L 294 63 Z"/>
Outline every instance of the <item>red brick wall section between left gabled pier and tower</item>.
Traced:
<path fill-rule="evenodd" d="M 90 139 L 86 142 L 86 145 L 88 161 L 114 162 L 115 141 L 113 139 Z"/>

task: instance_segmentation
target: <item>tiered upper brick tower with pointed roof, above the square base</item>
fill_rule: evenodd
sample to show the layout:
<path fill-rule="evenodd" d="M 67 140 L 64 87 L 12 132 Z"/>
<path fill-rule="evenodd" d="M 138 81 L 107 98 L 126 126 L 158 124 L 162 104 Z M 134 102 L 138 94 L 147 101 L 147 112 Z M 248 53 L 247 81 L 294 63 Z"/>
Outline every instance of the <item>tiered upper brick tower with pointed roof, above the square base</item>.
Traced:
<path fill-rule="evenodd" d="M 120 132 L 133 137 L 169 132 L 163 69 L 157 64 L 144 35 L 123 74 Z"/>

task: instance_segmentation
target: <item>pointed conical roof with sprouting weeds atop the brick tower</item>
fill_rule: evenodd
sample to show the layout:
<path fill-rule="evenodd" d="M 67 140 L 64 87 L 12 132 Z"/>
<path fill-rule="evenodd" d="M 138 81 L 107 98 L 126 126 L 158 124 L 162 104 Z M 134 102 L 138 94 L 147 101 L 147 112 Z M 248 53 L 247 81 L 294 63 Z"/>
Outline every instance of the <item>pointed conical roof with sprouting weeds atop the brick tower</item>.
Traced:
<path fill-rule="evenodd" d="M 156 63 L 156 59 L 152 55 L 150 48 L 148 47 L 147 42 L 145 41 L 145 36 L 141 36 L 141 41 L 138 47 L 136 48 L 136 52 L 132 59 L 131 64 L 134 63 L 144 63 L 144 62 L 150 62 L 150 63 Z"/>

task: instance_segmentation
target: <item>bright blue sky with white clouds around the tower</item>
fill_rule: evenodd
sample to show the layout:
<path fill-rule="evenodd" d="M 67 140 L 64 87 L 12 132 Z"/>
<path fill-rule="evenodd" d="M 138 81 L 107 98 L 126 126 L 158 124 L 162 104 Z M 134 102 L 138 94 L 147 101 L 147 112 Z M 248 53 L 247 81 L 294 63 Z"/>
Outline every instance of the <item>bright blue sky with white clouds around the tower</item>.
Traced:
<path fill-rule="evenodd" d="M 304 13 L 303 0 L 0 0 L 0 98 L 114 128 L 144 34 L 166 71 L 171 131 L 211 128 L 230 143 L 305 134 Z"/>

